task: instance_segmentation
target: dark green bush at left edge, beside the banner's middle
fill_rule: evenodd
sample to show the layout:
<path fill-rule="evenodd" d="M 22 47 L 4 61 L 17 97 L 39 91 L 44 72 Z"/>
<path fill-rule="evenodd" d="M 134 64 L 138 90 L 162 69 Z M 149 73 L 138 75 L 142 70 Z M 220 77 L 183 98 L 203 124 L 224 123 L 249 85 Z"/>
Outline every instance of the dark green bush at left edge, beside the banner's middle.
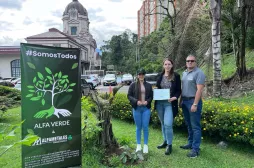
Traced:
<path fill-rule="evenodd" d="M 0 117 L 9 108 L 16 107 L 21 103 L 19 90 L 0 85 Z"/>

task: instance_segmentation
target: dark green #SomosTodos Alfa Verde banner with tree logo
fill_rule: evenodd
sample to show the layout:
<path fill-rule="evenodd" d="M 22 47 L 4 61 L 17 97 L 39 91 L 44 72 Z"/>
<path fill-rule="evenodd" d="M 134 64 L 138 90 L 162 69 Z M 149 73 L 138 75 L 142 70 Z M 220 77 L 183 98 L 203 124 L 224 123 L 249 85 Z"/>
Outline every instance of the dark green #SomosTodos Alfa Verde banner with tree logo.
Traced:
<path fill-rule="evenodd" d="M 81 165 L 80 50 L 21 44 L 22 167 Z"/>

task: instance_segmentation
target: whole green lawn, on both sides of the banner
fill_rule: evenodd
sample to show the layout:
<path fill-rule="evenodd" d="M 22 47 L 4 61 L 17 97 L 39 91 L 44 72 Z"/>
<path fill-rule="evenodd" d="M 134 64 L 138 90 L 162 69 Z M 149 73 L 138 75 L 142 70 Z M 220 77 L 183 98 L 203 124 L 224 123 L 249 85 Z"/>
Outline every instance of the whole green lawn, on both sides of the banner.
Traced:
<path fill-rule="evenodd" d="M 9 110 L 4 119 L 1 120 L 1 123 L 19 123 L 21 120 L 20 117 L 20 108 L 14 108 Z M 116 138 L 119 142 L 126 140 L 131 142 L 131 147 L 135 149 L 135 126 L 131 123 L 126 123 L 121 120 L 114 119 L 113 130 Z M 1 126 L 0 126 L 1 130 Z M 14 141 L 20 139 L 20 130 L 17 132 L 13 140 L 6 140 L 0 144 L 9 145 Z M 204 138 L 201 146 L 201 156 L 196 159 L 189 159 L 186 157 L 187 151 L 179 148 L 180 145 L 186 143 L 187 135 L 181 131 L 176 131 L 173 141 L 173 153 L 170 156 L 164 155 L 164 150 L 158 150 L 156 146 L 162 142 L 161 131 L 160 129 L 150 128 L 150 137 L 149 137 L 149 158 L 147 161 L 144 161 L 142 164 L 128 167 L 149 167 L 149 168 L 180 168 L 180 167 L 213 167 L 213 168 L 253 168 L 254 167 L 254 148 L 239 144 L 229 144 L 227 149 L 220 149 L 216 146 L 216 143 L 211 142 L 209 138 Z M 86 159 L 83 158 L 83 161 L 88 158 L 91 162 L 98 162 L 96 160 L 96 153 L 86 153 L 83 155 Z M 94 160 L 93 160 L 94 159 Z M 99 162 L 98 162 L 99 164 Z M 16 146 L 3 156 L 0 157 L 0 167 L 1 168 L 19 168 L 21 165 L 21 147 Z M 102 167 L 98 165 L 95 167 Z M 127 166 L 122 166 L 127 167 Z"/>

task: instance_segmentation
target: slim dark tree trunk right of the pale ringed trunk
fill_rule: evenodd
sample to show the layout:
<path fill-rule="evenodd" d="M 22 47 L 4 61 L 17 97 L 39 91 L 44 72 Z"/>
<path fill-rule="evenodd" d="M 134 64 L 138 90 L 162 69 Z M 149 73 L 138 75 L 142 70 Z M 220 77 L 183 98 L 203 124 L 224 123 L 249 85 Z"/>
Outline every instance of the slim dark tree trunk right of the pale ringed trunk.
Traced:
<path fill-rule="evenodd" d="M 240 68 L 238 69 L 238 75 L 240 80 L 247 75 L 246 63 L 245 63 L 245 40 L 246 40 L 246 5 L 245 0 L 242 0 L 241 11 L 241 49 L 240 49 Z"/>

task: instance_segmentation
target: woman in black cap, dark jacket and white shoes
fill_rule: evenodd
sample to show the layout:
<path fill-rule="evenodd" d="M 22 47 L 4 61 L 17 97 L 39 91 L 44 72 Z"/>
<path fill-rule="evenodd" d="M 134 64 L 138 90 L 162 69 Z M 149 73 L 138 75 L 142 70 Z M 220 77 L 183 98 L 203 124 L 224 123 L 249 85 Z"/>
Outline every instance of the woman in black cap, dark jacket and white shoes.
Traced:
<path fill-rule="evenodd" d="M 141 130 L 144 134 L 143 153 L 148 153 L 148 126 L 153 100 L 152 85 L 145 81 L 145 71 L 138 71 L 138 80 L 133 82 L 128 90 L 128 99 L 132 106 L 133 118 L 136 124 L 137 151 L 141 150 Z"/>

